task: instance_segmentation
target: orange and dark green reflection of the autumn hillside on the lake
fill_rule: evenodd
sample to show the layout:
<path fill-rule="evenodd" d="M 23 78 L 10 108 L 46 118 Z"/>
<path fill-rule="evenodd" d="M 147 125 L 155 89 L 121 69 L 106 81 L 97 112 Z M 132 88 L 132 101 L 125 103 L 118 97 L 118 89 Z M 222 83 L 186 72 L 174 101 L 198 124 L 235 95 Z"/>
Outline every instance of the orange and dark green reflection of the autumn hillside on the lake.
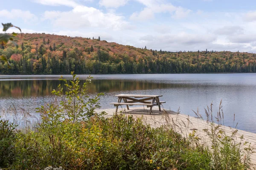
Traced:
<path fill-rule="evenodd" d="M 85 80 L 81 80 L 80 85 L 84 82 Z M 64 83 L 61 80 L 47 79 L 0 81 L 0 97 L 49 96 L 51 95 L 51 91 L 56 89 L 59 84 L 63 85 Z M 192 85 L 109 79 L 93 79 L 87 85 L 89 93 L 189 87 L 192 87 Z"/>

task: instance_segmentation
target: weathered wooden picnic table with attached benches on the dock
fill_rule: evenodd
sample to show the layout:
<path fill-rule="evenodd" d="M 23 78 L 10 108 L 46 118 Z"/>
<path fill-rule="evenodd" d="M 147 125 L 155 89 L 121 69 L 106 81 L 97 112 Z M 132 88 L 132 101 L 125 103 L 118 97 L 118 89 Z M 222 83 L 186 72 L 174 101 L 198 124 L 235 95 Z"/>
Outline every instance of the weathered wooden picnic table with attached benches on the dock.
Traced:
<path fill-rule="evenodd" d="M 147 108 L 150 108 L 150 113 L 152 113 L 153 106 L 158 106 L 159 111 L 161 111 L 160 105 L 165 102 L 160 102 L 159 97 L 163 95 L 143 95 L 143 94 L 118 94 L 115 95 L 118 97 L 116 103 L 110 103 L 116 106 L 116 113 L 118 111 L 119 105 L 126 105 L 129 110 L 129 106 L 132 105 L 144 105 Z M 123 102 L 122 102 L 123 100 Z"/>

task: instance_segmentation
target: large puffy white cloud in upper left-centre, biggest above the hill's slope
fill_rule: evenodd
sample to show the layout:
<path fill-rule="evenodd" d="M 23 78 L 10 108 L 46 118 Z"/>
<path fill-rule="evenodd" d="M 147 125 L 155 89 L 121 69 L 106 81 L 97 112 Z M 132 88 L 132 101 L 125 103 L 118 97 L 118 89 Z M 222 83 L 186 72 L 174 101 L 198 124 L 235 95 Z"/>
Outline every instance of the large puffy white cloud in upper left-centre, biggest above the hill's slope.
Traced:
<path fill-rule="evenodd" d="M 99 9 L 87 6 L 76 6 L 71 11 L 46 11 L 44 20 L 52 20 L 55 27 L 64 28 L 112 28 L 119 30 L 130 28 L 121 15 L 112 12 L 103 13 Z"/>

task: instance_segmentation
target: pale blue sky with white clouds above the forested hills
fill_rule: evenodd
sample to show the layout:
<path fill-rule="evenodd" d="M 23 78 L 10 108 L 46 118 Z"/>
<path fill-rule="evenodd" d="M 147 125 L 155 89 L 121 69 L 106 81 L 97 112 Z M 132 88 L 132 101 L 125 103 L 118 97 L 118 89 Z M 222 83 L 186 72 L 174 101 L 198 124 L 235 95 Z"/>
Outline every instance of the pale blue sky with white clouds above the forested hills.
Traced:
<path fill-rule="evenodd" d="M 24 33 L 100 36 L 154 50 L 256 53 L 255 6 L 255 0 L 1 0 L 0 22 Z"/>

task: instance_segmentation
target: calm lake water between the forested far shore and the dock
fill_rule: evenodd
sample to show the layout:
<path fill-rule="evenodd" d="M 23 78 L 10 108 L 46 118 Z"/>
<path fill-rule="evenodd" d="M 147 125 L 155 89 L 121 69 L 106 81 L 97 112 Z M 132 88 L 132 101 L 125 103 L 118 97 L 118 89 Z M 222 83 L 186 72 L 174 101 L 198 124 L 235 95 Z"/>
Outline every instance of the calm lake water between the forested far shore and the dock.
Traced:
<path fill-rule="evenodd" d="M 0 76 L 0 112 L 12 117 L 14 105 L 38 116 L 35 108 L 52 101 L 51 91 L 60 76 Z M 69 79 L 70 76 L 64 76 Z M 87 75 L 80 75 L 85 80 Z M 233 127 L 236 114 L 238 128 L 256 133 L 256 74 L 137 74 L 93 75 L 89 94 L 105 93 L 102 108 L 113 108 L 116 94 L 161 94 L 164 108 L 195 116 L 192 110 L 213 103 L 214 113 L 222 99 L 225 125 Z M 236 123 L 235 123 L 236 124 Z"/>

